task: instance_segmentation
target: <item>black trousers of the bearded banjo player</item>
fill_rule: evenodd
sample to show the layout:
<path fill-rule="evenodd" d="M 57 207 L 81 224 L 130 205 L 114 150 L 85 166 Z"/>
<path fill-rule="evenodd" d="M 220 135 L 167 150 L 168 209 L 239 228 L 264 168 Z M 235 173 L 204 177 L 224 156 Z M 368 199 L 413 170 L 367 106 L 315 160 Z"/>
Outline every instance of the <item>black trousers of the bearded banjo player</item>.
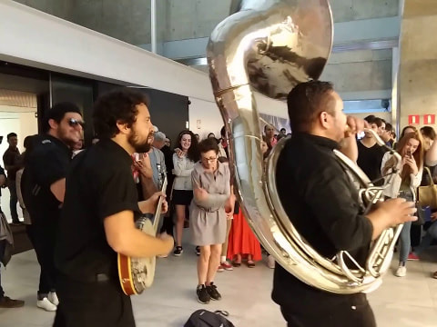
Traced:
<path fill-rule="evenodd" d="M 54 327 L 135 327 L 130 297 L 118 281 L 76 282 L 58 276 Z"/>

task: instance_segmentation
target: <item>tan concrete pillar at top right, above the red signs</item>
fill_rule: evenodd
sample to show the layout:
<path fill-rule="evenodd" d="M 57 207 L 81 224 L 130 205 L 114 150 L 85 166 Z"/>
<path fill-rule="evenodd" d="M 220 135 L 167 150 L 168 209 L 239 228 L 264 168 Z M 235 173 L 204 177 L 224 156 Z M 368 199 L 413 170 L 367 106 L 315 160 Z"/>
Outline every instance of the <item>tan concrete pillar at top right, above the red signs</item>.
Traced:
<path fill-rule="evenodd" d="M 420 114 L 421 126 L 423 114 L 437 114 L 436 31 L 436 1 L 405 0 L 399 74 L 401 128 L 408 124 L 409 114 Z"/>

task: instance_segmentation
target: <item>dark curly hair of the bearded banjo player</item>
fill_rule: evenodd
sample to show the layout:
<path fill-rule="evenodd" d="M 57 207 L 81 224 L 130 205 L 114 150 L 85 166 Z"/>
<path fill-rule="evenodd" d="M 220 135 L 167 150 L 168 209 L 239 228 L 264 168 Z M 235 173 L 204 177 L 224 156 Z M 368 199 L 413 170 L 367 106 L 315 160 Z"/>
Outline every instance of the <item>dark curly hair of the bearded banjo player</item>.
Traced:
<path fill-rule="evenodd" d="M 131 88 L 121 88 L 97 98 L 94 104 L 93 124 L 99 139 L 112 138 L 119 133 L 117 122 L 131 127 L 137 121 L 138 104 L 146 104 L 146 94 Z"/>

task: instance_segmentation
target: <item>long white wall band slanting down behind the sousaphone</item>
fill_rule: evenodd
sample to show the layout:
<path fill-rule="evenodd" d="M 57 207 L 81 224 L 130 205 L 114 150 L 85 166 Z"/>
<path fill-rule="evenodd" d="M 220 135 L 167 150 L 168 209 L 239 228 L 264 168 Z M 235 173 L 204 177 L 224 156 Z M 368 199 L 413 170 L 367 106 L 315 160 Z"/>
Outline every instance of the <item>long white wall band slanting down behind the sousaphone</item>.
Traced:
<path fill-rule="evenodd" d="M 218 117 L 208 74 L 25 5 L 0 1 L 0 40 L 0 60 L 186 95 L 190 119 L 211 120 L 205 130 Z M 261 113 L 287 116 L 285 104 L 262 96 L 257 102 Z"/>

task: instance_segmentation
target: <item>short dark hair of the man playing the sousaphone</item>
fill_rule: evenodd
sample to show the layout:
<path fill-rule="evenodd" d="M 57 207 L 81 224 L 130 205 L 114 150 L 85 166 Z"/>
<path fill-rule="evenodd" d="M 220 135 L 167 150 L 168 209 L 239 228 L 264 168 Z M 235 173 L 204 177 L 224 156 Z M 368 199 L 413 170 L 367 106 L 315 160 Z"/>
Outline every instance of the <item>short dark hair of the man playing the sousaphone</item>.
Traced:
<path fill-rule="evenodd" d="M 330 82 L 310 81 L 296 85 L 287 96 L 291 130 L 309 132 L 321 112 L 334 114 L 327 101 L 333 91 Z"/>

